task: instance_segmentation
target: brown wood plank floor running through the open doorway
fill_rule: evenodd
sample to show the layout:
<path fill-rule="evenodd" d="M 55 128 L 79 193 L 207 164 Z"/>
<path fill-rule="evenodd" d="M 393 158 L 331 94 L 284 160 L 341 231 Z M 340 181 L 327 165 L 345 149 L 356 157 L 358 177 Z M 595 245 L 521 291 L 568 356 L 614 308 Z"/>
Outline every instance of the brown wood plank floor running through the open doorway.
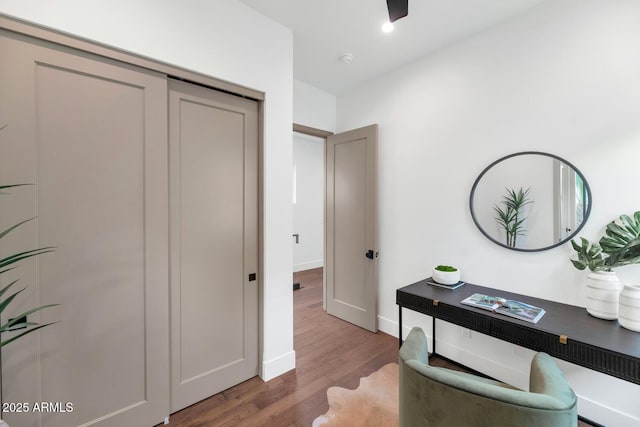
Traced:
<path fill-rule="evenodd" d="M 255 377 L 171 415 L 172 427 L 308 427 L 324 414 L 327 389 L 355 389 L 361 377 L 397 362 L 398 340 L 322 309 L 322 269 L 294 275 L 296 369 L 269 382 Z M 460 369 L 444 361 L 434 364 Z M 589 424 L 580 422 L 580 427 Z"/>

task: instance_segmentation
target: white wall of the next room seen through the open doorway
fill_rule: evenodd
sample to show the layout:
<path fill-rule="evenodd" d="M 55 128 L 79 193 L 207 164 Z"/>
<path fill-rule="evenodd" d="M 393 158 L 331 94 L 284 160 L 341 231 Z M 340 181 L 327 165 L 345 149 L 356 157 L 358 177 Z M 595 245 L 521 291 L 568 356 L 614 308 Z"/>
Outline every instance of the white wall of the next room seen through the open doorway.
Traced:
<path fill-rule="evenodd" d="M 324 265 L 324 138 L 293 133 L 293 271 Z"/>

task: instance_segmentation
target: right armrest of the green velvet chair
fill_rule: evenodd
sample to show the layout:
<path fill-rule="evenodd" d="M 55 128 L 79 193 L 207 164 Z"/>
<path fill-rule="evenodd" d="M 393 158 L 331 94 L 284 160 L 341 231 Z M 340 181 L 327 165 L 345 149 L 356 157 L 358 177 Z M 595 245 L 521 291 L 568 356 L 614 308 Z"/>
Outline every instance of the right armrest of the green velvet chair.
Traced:
<path fill-rule="evenodd" d="M 568 408 L 577 405 L 577 398 L 564 374 L 553 358 L 546 353 L 536 353 L 531 361 L 529 391 L 553 396 Z"/>

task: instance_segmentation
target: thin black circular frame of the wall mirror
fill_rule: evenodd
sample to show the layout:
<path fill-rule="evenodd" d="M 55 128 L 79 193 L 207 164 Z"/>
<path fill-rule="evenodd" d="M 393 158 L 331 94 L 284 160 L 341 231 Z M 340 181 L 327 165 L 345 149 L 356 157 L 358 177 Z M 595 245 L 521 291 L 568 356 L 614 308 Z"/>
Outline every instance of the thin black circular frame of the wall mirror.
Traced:
<path fill-rule="evenodd" d="M 584 185 L 584 190 L 586 192 L 587 195 L 587 200 L 589 203 L 587 203 L 587 207 L 584 213 L 584 220 L 582 221 L 582 223 L 573 231 L 573 233 L 571 233 L 569 236 L 567 236 L 566 238 L 562 239 L 561 241 L 554 243 L 553 245 L 550 246 L 545 246 L 543 248 L 535 248 L 535 249 L 523 249 L 523 248 L 514 248 L 511 246 L 507 246 L 502 242 L 499 242 L 498 240 L 494 239 L 493 237 L 491 237 L 486 231 L 484 231 L 484 229 L 480 226 L 480 223 L 478 222 L 478 219 L 476 218 L 476 214 L 475 211 L 473 209 L 473 196 L 475 195 L 476 192 L 476 187 L 478 186 L 478 184 L 480 183 L 480 180 L 482 179 L 482 177 L 495 165 L 497 165 L 498 163 L 510 159 L 511 157 L 516 157 L 516 156 L 522 156 L 525 154 L 537 154 L 537 155 L 541 155 L 541 156 L 546 156 L 546 157 L 551 157 L 553 159 L 557 159 L 561 162 L 563 162 L 564 164 L 566 164 L 567 166 L 571 167 L 577 174 L 578 176 L 580 176 L 580 178 L 582 178 L 582 183 Z M 584 175 L 582 174 L 582 172 L 580 172 L 580 170 L 575 167 L 572 163 L 566 161 L 565 159 L 563 159 L 562 157 L 556 156 L 555 154 L 550 154 L 550 153 L 545 153 L 542 151 L 520 151 L 517 153 L 513 153 L 513 154 L 509 154 L 507 156 L 501 157 L 498 160 L 494 161 L 493 163 L 491 163 L 489 166 L 487 166 L 486 168 L 484 168 L 484 170 L 482 172 L 480 172 L 480 175 L 478 175 L 478 177 L 476 178 L 475 182 L 473 183 L 473 186 L 471 187 L 471 194 L 469 195 L 469 210 L 471 211 L 471 218 L 473 219 L 474 224 L 476 225 L 476 227 L 478 228 L 478 230 L 480 230 L 480 232 L 482 234 L 484 234 L 484 236 L 491 240 L 493 243 L 495 243 L 498 246 L 502 246 L 503 248 L 506 249 L 510 249 L 512 251 L 519 251 L 519 252 L 541 252 L 541 251 L 546 251 L 549 249 L 553 249 L 555 247 L 558 247 L 560 245 L 564 245 L 565 243 L 567 243 L 569 240 L 573 239 L 579 232 L 580 230 L 582 230 L 582 227 L 584 227 L 585 223 L 587 222 L 587 220 L 589 219 L 589 215 L 591 214 L 591 206 L 593 205 L 593 199 L 591 197 L 591 187 L 589 187 L 589 183 L 587 182 L 586 178 L 584 177 Z"/>

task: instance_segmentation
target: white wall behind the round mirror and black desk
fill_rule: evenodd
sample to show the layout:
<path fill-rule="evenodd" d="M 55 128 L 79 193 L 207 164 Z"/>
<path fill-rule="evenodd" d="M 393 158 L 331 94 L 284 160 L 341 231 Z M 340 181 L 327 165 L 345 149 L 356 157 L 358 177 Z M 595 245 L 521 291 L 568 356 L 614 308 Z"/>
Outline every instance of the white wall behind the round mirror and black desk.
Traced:
<path fill-rule="evenodd" d="M 468 198 L 509 153 L 538 150 L 577 166 L 593 192 L 581 235 L 598 239 L 640 209 L 640 2 L 563 0 L 404 66 L 338 97 L 338 131 L 379 124 L 379 328 L 397 333 L 396 288 L 455 264 L 472 283 L 584 305 L 571 247 L 520 253 L 486 239 Z M 637 266 L 619 270 L 640 281 Z M 426 324 L 404 312 L 405 325 Z M 428 328 L 427 328 L 428 329 Z M 526 387 L 531 353 L 442 324 L 439 352 Z M 580 413 L 640 424 L 640 387 L 561 363 Z"/>

